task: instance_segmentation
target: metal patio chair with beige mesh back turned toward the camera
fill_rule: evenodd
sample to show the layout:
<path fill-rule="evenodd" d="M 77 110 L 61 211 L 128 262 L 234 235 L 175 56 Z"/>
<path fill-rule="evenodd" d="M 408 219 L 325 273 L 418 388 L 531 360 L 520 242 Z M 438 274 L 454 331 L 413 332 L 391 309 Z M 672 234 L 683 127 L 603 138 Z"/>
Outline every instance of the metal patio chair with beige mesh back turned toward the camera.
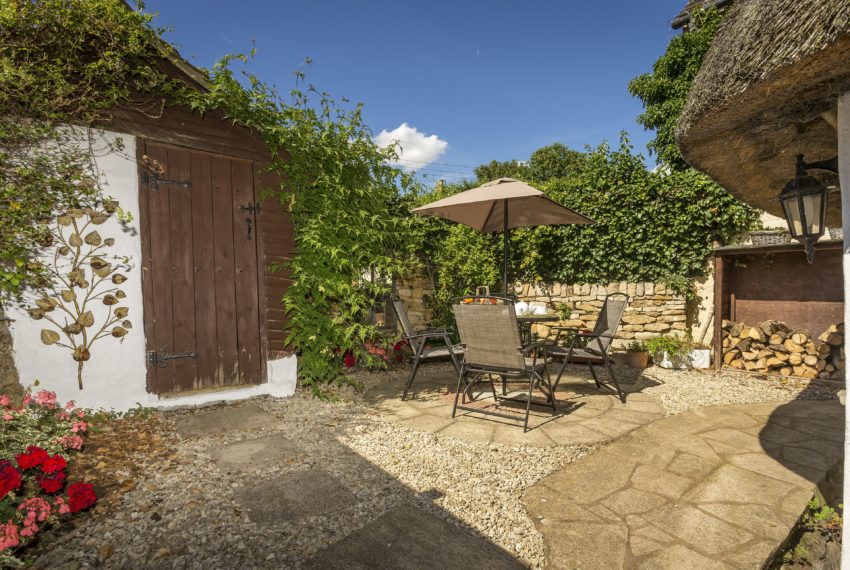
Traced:
<path fill-rule="evenodd" d="M 457 392 L 452 407 L 452 417 L 457 410 L 478 412 L 515 419 L 516 415 L 467 407 L 467 397 L 474 400 L 470 391 L 482 380 L 489 382 L 495 402 L 513 401 L 525 404 L 523 431 L 528 431 L 534 390 L 545 396 L 546 405 L 557 413 L 555 391 L 549 377 L 546 343 L 536 342 L 523 347 L 512 299 L 504 297 L 465 297 L 452 306 L 460 334 L 464 360 L 458 373 Z M 541 357 L 538 357 L 540 353 Z M 544 376 L 545 373 L 545 376 Z M 469 377 L 472 377 L 471 380 Z M 524 397 L 498 395 L 493 376 L 528 380 L 528 394 Z M 523 382 L 524 384 L 525 382 Z M 458 404 L 460 400 L 460 404 Z"/>

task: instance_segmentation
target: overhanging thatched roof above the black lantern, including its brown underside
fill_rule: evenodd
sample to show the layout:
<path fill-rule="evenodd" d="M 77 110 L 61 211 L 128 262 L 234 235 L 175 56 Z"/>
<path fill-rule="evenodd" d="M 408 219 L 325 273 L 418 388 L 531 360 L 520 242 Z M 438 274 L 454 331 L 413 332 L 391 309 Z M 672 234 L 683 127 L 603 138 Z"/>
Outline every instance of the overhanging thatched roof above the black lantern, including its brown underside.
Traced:
<path fill-rule="evenodd" d="M 694 80 L 679 146 L 694 167 L 781 215 L 794 155 L 837 154 L 830 121 L 848 90 L 848 0 L 737 0 Z"/>

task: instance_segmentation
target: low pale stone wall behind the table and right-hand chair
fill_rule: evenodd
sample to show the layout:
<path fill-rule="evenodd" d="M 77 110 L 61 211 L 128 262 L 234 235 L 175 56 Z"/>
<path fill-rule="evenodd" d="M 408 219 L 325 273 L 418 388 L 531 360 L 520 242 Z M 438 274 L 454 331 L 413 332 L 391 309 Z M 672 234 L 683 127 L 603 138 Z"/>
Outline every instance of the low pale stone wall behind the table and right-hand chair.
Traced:
<path fill-rule="evenodd" d="M 561 326 L 593 328 L 609 293 L 626 293 L 629 304 L 623 324 L 617 331 L 615 348 L 632 340 L 645 340 L 659 335 L 684 335 L 690 332 L 687 303 L 663 283 L 609 283 L 607 285 L 564 285 L 544 283 L 517 285 L 516 294 L 527 303 L 544 304 L 550 313 L 562 313 Z M 554 336 L 550 327 L 535 325 L 541 337 Z"/>

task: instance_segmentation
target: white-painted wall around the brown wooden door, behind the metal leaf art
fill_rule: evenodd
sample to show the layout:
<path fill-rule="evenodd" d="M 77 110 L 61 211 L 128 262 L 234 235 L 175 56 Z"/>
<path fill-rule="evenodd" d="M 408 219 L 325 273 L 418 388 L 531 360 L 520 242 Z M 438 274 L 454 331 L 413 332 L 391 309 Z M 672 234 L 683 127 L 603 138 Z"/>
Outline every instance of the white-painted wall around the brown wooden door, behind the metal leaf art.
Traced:
<path fill-rule="evenodd" d="M 211 401 L 236 400 L 263 394 L 276 397 L 295 392 L 296 363 L 291 356 L 268 364 L 268 383 L 222 391 L 205 391 L 186 396 L 160 398 L 146 389 L 144 319 L 142 314 L 141 236 L 138 225 L 139 196 L 136 141 L 130 135 L 95 132 L 91 136 L 82 130 L 79 144 L 93 144 L 95 162 L 106 195 L 120 202 L 134 220 L 122 225 L 113 216 L 97 227 L 101 237 L 115 238 L 111 253 L 126 256 L 127 267 L 121 272 L 129 279 L 121 286 L 127 297 L 121 305 L 129 307 L 128 319 L 133 328 L 121 339 L 106 337 L 95 341 L 91 359 L 83 371 L 83 389 L 77 387 L 77 363 L 68 349 L 46 346 L 41 342 L 41 329 L 49 326 L 44 320 L 33 320 L 23 307 L 12 307 L 8 317 L 11 324 L 15 364 L 25 386 L 39 381 L 39 389 L 54 390 L 61 401 L 75 400 L 78 405 L 92 408 L 126 410 L 137 403 L 144 406 L 175 407 L 199 405 Z M 120 139 L 123 149 L 110 150 Z M 102 323 L 109 307 L 95 303 L 92 308 L 95 322 Z"/>

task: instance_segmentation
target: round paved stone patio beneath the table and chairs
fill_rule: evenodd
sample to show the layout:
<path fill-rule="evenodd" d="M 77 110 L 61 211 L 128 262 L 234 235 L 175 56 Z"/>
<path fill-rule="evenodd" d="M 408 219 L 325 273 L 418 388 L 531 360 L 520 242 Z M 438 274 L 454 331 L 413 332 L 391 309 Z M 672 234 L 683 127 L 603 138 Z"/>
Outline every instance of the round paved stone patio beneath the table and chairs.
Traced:
<path fill-rule="evenodd" d="M 586 369 L 585 369 L 586 370 Z M 595 444 L 621 437 L 641 426 L 664 417 L 664 407 L 654 397 L 636 391 L 634 384 L 622 384 L 626 403 L 607 389 L 598 390 L 587 377 L 567 376 L 557 390 L 558 413 L 548 406 L 532 406 L 529 431 L 523 433 L 525 406 L 503 405 L 502 412 L 513 413 L 516 420 L 459 411 L 451 417 L 457 376 L 450 367 L 420 369 L 408 399 L 401 400 L 402 382 L 387 382 L 369 390 L 365 400 L 372 409 L 391 421 L 411 429 L 450 435 L 475 442 L 508 445 Z M 515 385 L 517 388 L 519 384 Z M 480 400 L 481 407 L 493 404 L 489 388 Z"/>

